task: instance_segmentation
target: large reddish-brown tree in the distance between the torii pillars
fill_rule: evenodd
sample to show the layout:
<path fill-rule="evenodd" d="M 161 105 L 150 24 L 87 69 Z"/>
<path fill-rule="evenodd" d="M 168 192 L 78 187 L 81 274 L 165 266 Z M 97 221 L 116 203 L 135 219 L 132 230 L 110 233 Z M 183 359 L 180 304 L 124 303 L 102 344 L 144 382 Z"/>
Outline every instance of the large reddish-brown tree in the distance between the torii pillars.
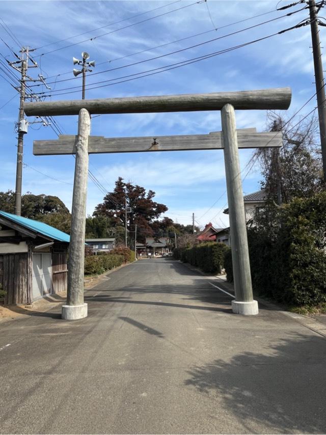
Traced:
<path fill-rule="evenodd" d="M 138 226 L 137 239 L 145 241 L 146 236 L 154 235 L 151 227 L 153 221 L 168 210 L 164 204 L 153 201 L 155 192 L 146 192 L 144 187 L 130 182 L 125 183 L 119 177 L 115 183 L 113 192 L 108 193 L 103 198 L 103 203 L 98 204 L 93 213 L 94 216 L 107 216 L 111 219 L 114 227 L 125 226 L 125 201 L 127 209 L 127 227 L 130 233 L 134 232 L 135 224 Z"/>

